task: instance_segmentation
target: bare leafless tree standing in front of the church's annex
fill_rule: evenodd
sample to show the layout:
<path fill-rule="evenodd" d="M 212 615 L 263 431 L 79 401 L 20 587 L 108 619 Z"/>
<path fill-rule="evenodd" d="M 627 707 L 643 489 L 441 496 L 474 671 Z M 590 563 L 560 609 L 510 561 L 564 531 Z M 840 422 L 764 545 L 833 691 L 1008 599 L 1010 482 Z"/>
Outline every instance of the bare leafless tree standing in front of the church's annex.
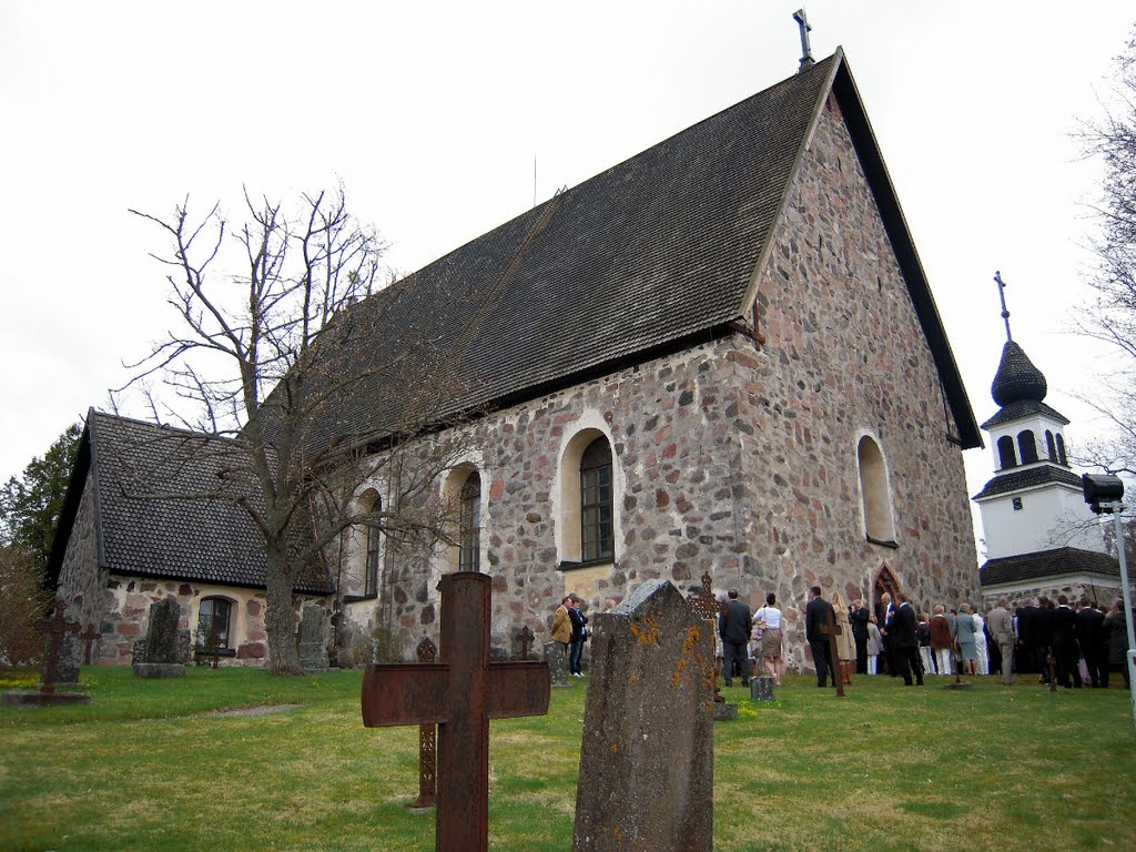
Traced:
<path fill-rule="evenodd" d="M 169 241 L 153 257 L 179 318 L 134 365 L 132 383 L 159 377 L 173 402 L 148 394 L 157 419 L 226 438 L 183 438 L 183 453 L 217 452 L 218 483 L 164 496 L 227 500 L 248 516 L 267 556 L 272 667 L 299 673 L 294 590 L 314 567 L 327 576 L 320 561 L 344 531 L 427 544 L 445 536 L 446 507 L 428 498 L 461 450 L 462 431 L 444 428 L 458 389 L 444 346 L 416 328 L 412 289 L 382 286 L 384 244 L 349 212 L 342 187 L 304 194 L 291 211 L 248 193 L 244 202 L 236 227 L 217 204 L 194 218 L 187 200 L 169 219 L 131 211 Z M 384 404 L 375 387 L 396 387 L 398 399 Z M 368 483 L 381 504 L 359 504 Z"/>

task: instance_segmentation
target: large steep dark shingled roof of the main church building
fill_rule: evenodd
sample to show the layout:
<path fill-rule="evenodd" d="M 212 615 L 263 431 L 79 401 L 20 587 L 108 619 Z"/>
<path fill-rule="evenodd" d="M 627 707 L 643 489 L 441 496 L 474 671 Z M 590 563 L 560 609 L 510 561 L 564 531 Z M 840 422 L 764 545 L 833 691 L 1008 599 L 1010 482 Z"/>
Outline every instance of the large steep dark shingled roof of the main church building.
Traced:
<path fill-rule="evenodd" d="M 436 411 L 443 423 L 721 333 L 753 298 L 763 249 L 829 91 L 841 102 L 876 193 L 959 443 L 980 446 L 934 299 L 840 51 L 353 306 L 341 319 L 362 332 L 350 335 L 354 345 L 366 339 L 367 357 L 376 364 L 399 356 L 403 361 L 398 376 L 376 375 L 327 407 L 308 433 L 310 445 L 399 431 L 410 419 L 408 389 L 432 370 L 452 375 L 452 393 Z"/>

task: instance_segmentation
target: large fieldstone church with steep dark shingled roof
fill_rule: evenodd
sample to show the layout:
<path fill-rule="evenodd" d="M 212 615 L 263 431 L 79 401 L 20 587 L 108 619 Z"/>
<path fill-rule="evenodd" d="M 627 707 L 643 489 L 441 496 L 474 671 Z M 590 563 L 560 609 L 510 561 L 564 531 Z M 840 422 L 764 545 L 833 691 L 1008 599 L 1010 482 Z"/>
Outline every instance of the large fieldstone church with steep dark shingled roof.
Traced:
<path fill-rule="evenodd" d="M 412 324 L 462 346 L 448 404 L 476 416 L 434 485 L 461 528 L 453 546 L 417 553 L 348 536 L 352 570 L 296 588 L 335 617 L 341 652 L 366 658 L 376 629 L 407 653 L 436 641 L 435 586 L 454 569 L 492 575 L 502 653 L 524 625 L 546 638 L 566 593 L 602 610 L 660 577 L 687 591 L 710 573 L 754 607 L 776 593 L 801 668 L 812 585 L 904 591 L 920 607 L 977 599 L 962 450 L 982 437 L 843 52 L 394 286 L 410 312 L 367 326 L 374 299 L 351 309 L 368 344 Z M 326 438 L 402 395 L 376 381 Z M 60 585 L 83 595 L 102 660 L 122 660 L 122 630 L 170 595 L 187 628 L 224 618 L 234 658 L 260 659 L 264 590 L 242 521 L 106 517 L 100 440 L 158 428 L 90 418 L 94 452 L 57 537 Z"/>

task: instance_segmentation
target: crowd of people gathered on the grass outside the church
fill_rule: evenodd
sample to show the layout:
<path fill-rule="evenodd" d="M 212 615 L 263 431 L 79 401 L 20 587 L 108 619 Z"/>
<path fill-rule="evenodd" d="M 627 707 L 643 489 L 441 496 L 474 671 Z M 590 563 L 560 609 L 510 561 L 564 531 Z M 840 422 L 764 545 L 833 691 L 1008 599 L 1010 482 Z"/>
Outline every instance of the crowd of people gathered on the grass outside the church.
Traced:
<path fill-rule="evenodd" d="M 587 617 L 580 602 L 565 596 L 552 619 L 552 638 L 563 643 L 569 670 L 583 677 L 580 657 L 587 638 Z M 862 599 L 845 605 L 840 593 L 826 601 L 819 586 L 809 592 L 805 640 L 817 670 L 817 685 L 836 685 L 836 678 L 854 668 L 861 675 L 891 675 L 907 685 L 922 685 L 926 675 L 1034 674 L 1039 683 L 1051 677 L 1059 686 L 1108 688 L 1110 673 L 1120 671 L 1128 685 L 1126 662 L 1128 632 L 1124 602 L 1105 612 L 1086 596 L 1070 602 L 1041 598 L 1012 610 L 1005 599 L 984 617 L 970 603 L 958 609 L 943 604 L 932 613 L 917 612 L 904 594 L 884 593 L 872 613 Z M 750 611 L 738 591 L 730 588 L 718 618 L 722 674 L 726 686 L 740 676 L 762 669 L 779 685 L 784 670 L 784 613 L 770 592 L 766 603 Z M 833 659 L 833 630 L 836 659 Z M 1052 673 L 1052 674 L 1051 674 Z"/>

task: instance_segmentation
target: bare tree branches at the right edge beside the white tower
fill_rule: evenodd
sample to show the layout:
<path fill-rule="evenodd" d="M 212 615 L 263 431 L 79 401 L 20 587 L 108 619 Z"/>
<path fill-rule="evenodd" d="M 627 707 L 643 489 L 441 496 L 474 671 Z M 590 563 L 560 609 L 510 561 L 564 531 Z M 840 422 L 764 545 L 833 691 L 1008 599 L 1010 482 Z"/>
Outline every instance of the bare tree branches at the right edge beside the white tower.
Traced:
<path fill-rule="evenodd" d="M 1085 153 L 1104 165 L 1094 212 L 1100 234 L 1093 243 L 1093 295 L 1074 319 L 1075 329 L 1106 343 L 1117 369 L 1102 377 L 1085 401 L 1105 418 L 1108 433 L 1085 442 L 1077 460 L 1136 476 L 1136 39 L 1117 58 L 1117 80 L 1104 116 L 1089 122 L 1079 139 Z"/>

